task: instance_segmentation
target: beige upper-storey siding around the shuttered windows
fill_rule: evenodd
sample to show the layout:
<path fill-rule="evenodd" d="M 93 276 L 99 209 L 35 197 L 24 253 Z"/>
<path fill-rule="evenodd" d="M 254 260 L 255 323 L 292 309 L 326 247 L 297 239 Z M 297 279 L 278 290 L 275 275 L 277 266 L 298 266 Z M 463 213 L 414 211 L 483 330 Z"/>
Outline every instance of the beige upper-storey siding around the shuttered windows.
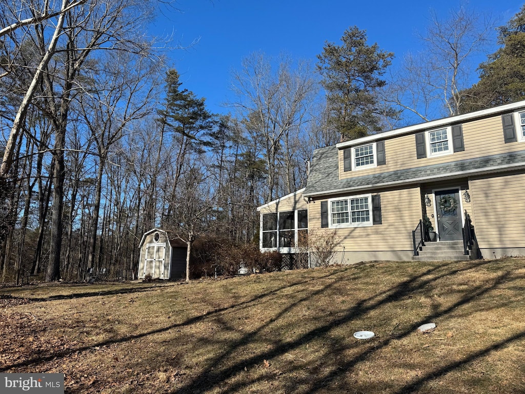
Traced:
<path fill-rule="evenodd" d="M 361 177 L 363 175 L 424 167 L 432 164 L 443 164 L 451 161 L 474 159 L 525 149 L 524 142 L 505 143 L 501 115 L 463 123 L 465 150 L 444 156 L 417 159 L 414 134 L 385 140 L 386 164 L 366 170 L 344 172 L 343 150 L 340 149 L 339 178 Z M 449 141 L 449 143 L 451 143 L 451 141 Z"/>

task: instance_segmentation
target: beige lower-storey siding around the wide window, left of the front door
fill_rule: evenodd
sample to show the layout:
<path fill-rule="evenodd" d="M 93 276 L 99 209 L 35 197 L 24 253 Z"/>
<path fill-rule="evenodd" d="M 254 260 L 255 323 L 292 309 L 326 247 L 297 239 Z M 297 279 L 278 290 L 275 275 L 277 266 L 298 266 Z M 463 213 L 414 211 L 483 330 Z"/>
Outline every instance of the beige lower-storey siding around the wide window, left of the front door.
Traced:
<path fill-rule="evenodd" d="M 374 193 L 381 195 L 382 224 L 321 230 L 321 200 L 309 205 L 309 231 L 335 231 L 338 251 L 412 250 L 412 230 L 422 217 L 418 187 Z M 403 213 L 400 214 L 401 209 Z"/>

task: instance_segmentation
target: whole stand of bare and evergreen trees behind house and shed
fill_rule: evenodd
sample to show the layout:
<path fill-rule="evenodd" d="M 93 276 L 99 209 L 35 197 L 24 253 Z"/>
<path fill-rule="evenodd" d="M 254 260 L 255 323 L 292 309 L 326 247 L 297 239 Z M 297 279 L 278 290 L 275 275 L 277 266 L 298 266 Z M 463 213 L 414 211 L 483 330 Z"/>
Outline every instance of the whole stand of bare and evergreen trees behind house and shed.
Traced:
<path fill-rule="evenodd" d="M 258 242 L 256 207 L 306 184 L 313 149 L 525 98 L 525 8 L 474 86 L 468 60 L 491 22 L 462 8 L 434 18 L 428 62 L 407 57 L 390 77 L 394 54 L 355 26 L 317 68 L 248 55 L 217 115 L 145 39 L 153 3 L 0 4 L 0 282 L 132 273 L 153 227 L 188 246 Z"/>

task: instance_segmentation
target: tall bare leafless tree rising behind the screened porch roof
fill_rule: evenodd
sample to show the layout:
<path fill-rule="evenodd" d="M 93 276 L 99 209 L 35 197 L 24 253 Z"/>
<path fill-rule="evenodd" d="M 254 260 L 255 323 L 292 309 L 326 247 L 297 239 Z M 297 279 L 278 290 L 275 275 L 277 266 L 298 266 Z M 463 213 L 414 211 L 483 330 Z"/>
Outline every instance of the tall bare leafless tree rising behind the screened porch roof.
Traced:
<path fill-rule="evenodd" d="M 243 59 L 240 71 L 234 72 L 233 84 L 237 101 L 231 105 L 262 151 L 267 167 L 265 200 L 271 201 L 279 192 L 280 179 L 287 183 L 283 191 L 297 187 L 290 184 L 291 174 L 279 160 L 287 165 L 295 153 L 289 142 L 309 120 L 316 80 L 308 63 L 299 62 L 293 68 L 291 59 L 283 57 L 274 71 L 271 59 L 254 53 Z"/>

